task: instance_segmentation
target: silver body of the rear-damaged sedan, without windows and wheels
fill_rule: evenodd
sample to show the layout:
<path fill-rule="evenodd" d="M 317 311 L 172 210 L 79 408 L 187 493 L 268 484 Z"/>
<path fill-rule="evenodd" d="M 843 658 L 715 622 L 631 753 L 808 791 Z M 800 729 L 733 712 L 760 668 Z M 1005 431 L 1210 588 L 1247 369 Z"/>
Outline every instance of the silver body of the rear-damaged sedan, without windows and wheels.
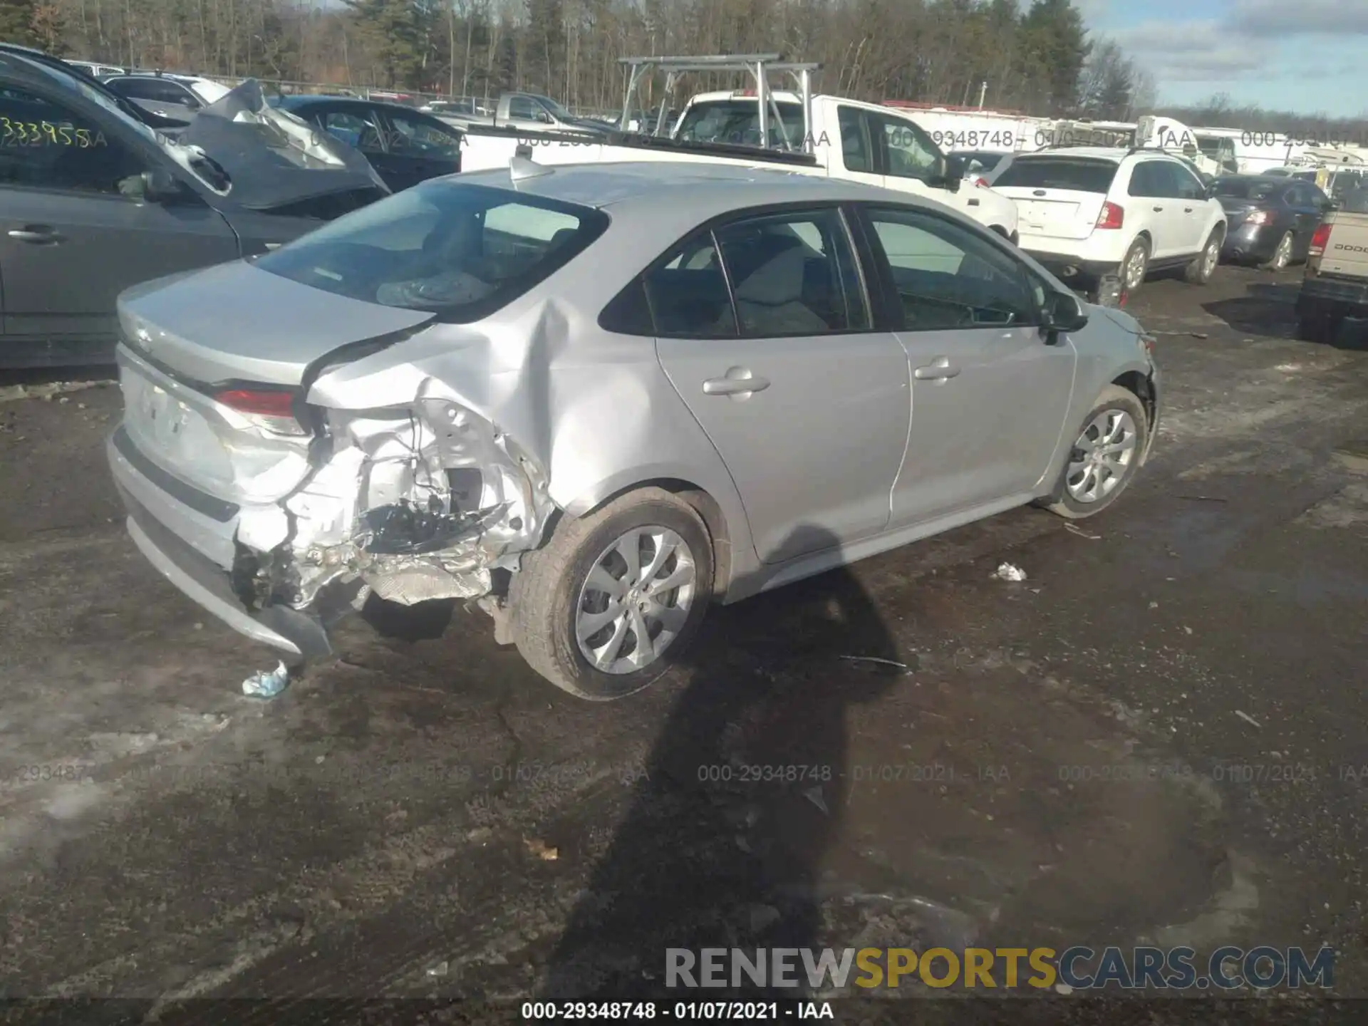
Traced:
<path fill-rule="evenodd" d="M 703 164 L 531 175 L 417 186 L 479 185 L 606 215 L 579 256 L 475 323 L 345 298 L 252 261 L 123 294 L 126 413 L 108 456 L 129 531 L 172 583 L 242 633 L 321 654 L 327 624 L 363 586 L 409 603 L 483 595 L 557 517 L 663 483 L 706 497 L 714 598 L 733 602 L 1040 498 L 1108 383 L 1130 376 L 1157 397 L 1141 328 L 1115 309 L 1092 308 L 1086 327 L 1052 345 L 1038 327 L 607 331 L 605 305 L 677 239 L 776 204 L 933 211 L 1067 290 L 992 233 L 906 193 Z M 323 231 L 383 220 L 404 196 Z M 923 373 L 947 356 L 962 373 Z M 706 394 L 706 380 L 752 373 L 769 384 Z M 300 387 L 313 428 L 272 434 L 212 398 L 235 382 Z M 461 468 L 480 472 L 482 495 L 443 524 L 445 543 L 379 551 L 368 512 L 424 494 L 447 503 Z"/>

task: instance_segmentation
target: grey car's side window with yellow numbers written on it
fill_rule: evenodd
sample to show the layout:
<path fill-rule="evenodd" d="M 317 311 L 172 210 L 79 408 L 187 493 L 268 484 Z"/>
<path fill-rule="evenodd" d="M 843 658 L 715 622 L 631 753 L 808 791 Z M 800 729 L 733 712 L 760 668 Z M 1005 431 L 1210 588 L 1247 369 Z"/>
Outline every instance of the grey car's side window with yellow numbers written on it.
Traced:
<path fill-rule="evenodd" d="M 64 104 L 5 86 L 0 93 L 0 185 L 137 194 L 142 161 Z"/>

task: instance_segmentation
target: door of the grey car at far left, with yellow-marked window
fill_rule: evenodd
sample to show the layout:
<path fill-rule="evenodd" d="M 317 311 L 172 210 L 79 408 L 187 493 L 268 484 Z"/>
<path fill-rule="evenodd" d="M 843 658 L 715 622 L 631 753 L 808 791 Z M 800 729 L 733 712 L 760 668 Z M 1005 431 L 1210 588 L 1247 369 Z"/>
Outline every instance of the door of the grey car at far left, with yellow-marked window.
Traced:
<path fill-rule="evenodd" d="M 170 160 L 156 161 L 60 92 L 0 88 L 4 334 L 112 339 L 120 291 L 233 260 L 237 237 L 194 193 L 137 198 L 140 175 Z"/>

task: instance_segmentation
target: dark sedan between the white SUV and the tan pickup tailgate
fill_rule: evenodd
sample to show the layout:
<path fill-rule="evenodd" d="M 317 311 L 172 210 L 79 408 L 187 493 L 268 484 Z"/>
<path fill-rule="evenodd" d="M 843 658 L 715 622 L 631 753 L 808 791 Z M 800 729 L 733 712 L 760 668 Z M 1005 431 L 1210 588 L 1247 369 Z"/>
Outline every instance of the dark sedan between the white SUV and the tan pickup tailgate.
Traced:
<path fill-rule="evenodd" d="M 1275 175 L 1226 175 L 1215 193 L 1228 226 L 1222 257 L 1274 271 L 1306 259 L 1316 226 L 1334 209 L 1313 182 Z"/>

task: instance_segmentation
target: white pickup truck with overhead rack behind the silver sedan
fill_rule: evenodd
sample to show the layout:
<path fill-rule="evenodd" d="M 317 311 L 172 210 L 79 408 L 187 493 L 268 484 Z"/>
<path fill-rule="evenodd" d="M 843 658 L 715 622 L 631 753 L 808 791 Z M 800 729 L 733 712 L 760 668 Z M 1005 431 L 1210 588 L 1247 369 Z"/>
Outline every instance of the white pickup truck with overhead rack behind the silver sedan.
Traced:
<path fill-rule="evenodd" d="M 616 133 L 598 140 L 580 133 L 501 131 L 469 123 L 461 171 L 508 167 L 518 146 L 531 148 L 539 164 L 784 163 L 796 172 L 936 200 L 1016 241 L 1016 205 L 986 186 L 964 182 L 962 161 L 948 159 L 911 118 L 839 96 L 811 97 L 804 118 L 798 93 L 766 92 L 766 97 L 763 131 L 762 100 L 754 90 L 694 96 L 669 138 Z"/>

